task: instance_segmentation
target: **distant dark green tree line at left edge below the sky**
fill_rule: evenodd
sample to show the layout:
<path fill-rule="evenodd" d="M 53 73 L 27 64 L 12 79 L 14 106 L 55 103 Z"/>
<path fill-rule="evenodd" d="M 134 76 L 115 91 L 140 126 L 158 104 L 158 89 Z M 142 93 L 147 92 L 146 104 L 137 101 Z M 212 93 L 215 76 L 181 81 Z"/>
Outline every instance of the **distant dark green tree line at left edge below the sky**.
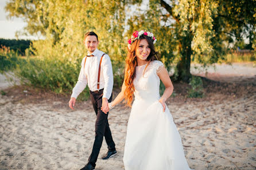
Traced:
<path fill-rule="evenodd" d="M 25 39 L 3 39 L 0 38 L 0 46 L 9 47 L 10 50 L 17 51 L 22 56 L 25 55 L 25 50 L 29 48 L 31 41 Z"/>

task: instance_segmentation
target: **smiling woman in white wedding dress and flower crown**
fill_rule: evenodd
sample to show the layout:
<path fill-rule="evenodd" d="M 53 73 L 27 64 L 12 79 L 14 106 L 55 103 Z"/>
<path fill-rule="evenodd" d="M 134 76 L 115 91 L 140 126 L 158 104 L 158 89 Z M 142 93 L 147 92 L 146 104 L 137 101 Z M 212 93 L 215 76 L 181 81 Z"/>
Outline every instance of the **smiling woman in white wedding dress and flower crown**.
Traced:
<path fill-rule="evenodd" d="M 157 60 L 156 41 L 153 33 L 134 31 L 128 41 L 122 91 L 102 110 L 107 112 L 124 98 L 131 106 L 134 94 L 123 156 L 126 170 L 188 170 L 180 134 L 165 104 L 173 85 L 164 64 Z M 161 97 L 160 80 L 165 85 Z"/>

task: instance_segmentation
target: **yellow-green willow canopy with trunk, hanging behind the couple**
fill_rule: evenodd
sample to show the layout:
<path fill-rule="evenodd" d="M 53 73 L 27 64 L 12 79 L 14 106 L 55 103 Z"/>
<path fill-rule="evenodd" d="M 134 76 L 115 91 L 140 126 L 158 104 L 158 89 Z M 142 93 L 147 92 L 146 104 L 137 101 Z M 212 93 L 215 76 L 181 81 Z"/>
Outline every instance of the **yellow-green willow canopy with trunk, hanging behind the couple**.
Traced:
<path fill-rule="evenodd" d="M 59 60 L 78 61 L 84 54 L 83 34 L 93 30 L 99 34 L 99 48 L 114 64 L 123 64 L 127 37 L 138 29 L 152 31 L 161 60 L 168 67 L 175 64 L 174 77 L 186 82 L 191 61 L 208 65 L 223 60 L 230 45 L 246 37 L 255 48 L 254 0 L 9 0 L 5 9 L 9 17 L 28 22 L 29 34 L 44 35 L 33 43 L 34 53 Z"/>

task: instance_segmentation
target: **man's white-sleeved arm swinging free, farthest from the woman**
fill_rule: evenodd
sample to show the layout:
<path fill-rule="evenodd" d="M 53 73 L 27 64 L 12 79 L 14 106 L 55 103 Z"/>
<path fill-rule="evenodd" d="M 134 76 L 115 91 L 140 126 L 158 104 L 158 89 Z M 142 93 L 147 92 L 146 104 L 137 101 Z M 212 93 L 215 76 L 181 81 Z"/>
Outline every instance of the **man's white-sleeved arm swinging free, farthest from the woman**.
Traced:
<path fill-rule="evenodd" d="M 73 109 L 73 106 L 75 106 L 77 96 L 79 96 L 79 94 L 83 92 L 88 82 L 87 76 L 86 74 L 84 74 L 84 61 L 85 61 L 85 58 L 83 58 L 78 81 L 76 82 L 76 85 L 72 90 L 71 98 L 69 100 L 69 108 L 71 109 Z"/>

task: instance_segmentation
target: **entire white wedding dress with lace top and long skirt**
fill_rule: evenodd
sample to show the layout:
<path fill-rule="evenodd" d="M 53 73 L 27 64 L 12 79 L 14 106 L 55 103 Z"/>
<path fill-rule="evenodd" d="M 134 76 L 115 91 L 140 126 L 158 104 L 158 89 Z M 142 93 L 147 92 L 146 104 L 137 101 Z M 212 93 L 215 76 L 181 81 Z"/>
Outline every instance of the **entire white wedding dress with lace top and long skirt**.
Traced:
<path fill-rule="evenodd" d="M 188 170 L 180 134 L 172 114 L 160 99 L 157 72 L 164 65 L 152 61 L 136 67 L 135 100 L 131 107 L 123 163 L 126 170 Z"/>

